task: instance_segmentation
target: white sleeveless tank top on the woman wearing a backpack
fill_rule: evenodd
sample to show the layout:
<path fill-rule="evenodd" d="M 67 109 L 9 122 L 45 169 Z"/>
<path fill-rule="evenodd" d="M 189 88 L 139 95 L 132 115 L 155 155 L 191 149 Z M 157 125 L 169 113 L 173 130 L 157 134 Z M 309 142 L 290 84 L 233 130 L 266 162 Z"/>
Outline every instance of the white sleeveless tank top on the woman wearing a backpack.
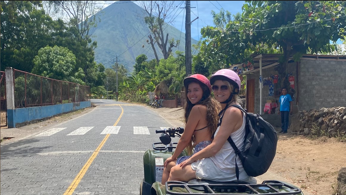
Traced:
<path fill-rule="evenodd" d="M 244 147 L 244 137 L 245 137 L 245 113 L 243 113 L 243 124 L 242 126 L 231 133 L 231 138 L 235 145 L 238 147 L 240 151 L 243 150 Z M 219 121 L 220 122 L 220 121 Z M 220 126 L 216 129 L 215 136 L 219 132 Z M 221 150 L 215 155 L 211 156 L 210 159 L 214 162 L 214 164 L 222 171 L 227 173 L 235 172 L 235 159 L 237 160 L 237 165 L 239 167 L 239 172 L 243 170 L 242 161 L 237 156 L 231 146 L 231 144 L 226 141 L 224 145 L 221 147 Z"/>

